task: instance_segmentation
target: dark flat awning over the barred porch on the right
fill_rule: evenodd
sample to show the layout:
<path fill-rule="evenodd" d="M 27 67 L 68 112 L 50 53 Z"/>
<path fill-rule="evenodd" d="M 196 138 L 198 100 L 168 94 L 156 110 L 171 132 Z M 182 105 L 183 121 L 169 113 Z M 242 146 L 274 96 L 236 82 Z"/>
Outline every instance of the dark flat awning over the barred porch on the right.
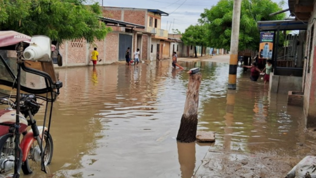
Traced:
<path fill-rule="evenodd" d="M 308 22 L 297 20 L 283 20 L 283 21 L 259 21 L 258 28 L 260 31 L 273 30 L 306 30 Z"/>

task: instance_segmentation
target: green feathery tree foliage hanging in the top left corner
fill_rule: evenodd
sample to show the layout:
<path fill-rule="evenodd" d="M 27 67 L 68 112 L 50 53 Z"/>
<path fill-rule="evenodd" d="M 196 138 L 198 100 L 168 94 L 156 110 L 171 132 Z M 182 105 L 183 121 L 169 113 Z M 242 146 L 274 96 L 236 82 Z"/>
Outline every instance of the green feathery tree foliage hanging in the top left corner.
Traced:
<path fill-rule="evenodd" d="M 104 39 L 111 28 L 98 20 L 98 5 L 85 0 L 0 0 L 0 30 L 14 30 L 29 36 L 46 35 L 63 42 L 85 38 Z"/>

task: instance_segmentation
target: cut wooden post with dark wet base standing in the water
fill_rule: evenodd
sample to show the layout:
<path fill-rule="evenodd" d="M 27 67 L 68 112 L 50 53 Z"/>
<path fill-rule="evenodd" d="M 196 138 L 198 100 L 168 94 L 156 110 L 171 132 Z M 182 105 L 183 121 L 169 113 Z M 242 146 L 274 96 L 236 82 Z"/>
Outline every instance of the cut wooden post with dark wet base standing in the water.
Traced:
<path fill-rule="evenodd" d="M 187 99 L 177 136 L 177 141 L 183 143 L 191 143 L 196 140 L 198 97 L 202 76 L 199 69 L 196 68 L 191 69 L 189 74 Z"/>

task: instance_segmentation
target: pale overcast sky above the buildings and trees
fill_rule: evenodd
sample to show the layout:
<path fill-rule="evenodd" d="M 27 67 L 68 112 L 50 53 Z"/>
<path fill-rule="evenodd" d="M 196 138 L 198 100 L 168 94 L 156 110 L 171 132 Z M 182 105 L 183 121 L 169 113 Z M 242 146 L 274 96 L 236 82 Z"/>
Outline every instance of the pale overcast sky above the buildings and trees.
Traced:
<path fill-rule="evenodd" d="M 102 0 L 95 0 L 100 4 Z M 161 28 L 179 29 L 184 32 L 189 25 L 195 25 L 205 8 L 211 8 L 219 0 L 103 0 L 104 6 L 134 7 L 146 9 L 159 9 L 167 12 L 169 16 L 162 17 Z M 281 0 L 272 0 L 279 3 Z M 283 9 L 289 8 L 287 2 Z M 174 21 L 174 24 L 173 24 Z M 170 25 L 172 23 L 172 25 Z M 168 24 L 168 27 L 167 27 Z M 173 26 L 174 25 L 174 26 Z"/>

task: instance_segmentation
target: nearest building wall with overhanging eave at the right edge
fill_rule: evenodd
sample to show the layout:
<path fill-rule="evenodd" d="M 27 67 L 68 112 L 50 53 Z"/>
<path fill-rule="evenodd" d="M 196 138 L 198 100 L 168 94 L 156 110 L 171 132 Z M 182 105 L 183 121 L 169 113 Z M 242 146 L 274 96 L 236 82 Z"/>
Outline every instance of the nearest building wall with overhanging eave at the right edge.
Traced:
<path fill-rule="evenodd" d="M 289 0 L 289 9 L 295 19 L 305 22 L 307 33 L 302 32 L 305 43 L 302 44 L 303 66 L 302 88 L 304 95 L 304 114 L 307 127 L 316 127 L 316 0 Z M 299 22 L 300 22 L 299 21 Z"/>

